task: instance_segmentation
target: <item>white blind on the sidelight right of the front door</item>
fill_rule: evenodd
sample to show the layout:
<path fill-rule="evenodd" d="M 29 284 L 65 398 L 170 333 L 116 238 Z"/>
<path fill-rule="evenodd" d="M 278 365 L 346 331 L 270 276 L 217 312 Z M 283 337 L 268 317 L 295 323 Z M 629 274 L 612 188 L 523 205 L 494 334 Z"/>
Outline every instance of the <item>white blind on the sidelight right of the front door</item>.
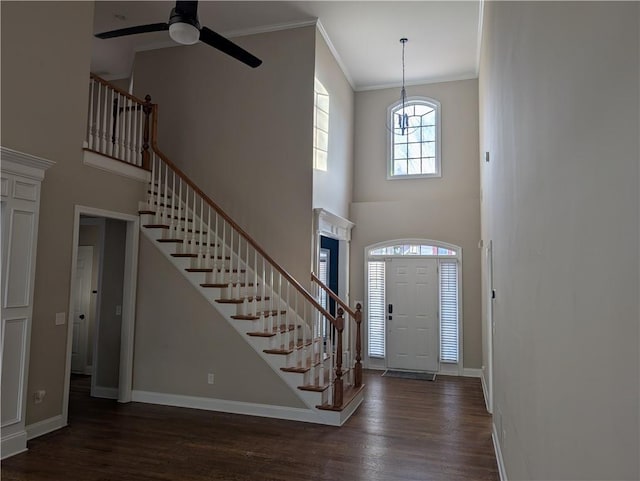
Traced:
<path fill-rule="evenodd" d="M 458 362 L 458 263 L 440 261 L 440 360 Z"/>

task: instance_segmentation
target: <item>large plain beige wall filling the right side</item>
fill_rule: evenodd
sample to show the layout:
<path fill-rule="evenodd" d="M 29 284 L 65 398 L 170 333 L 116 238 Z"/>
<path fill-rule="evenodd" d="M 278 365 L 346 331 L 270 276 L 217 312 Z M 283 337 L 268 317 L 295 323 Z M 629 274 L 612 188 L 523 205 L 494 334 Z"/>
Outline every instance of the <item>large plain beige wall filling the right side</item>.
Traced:
<path fill-rule="evenodd" d="M 485 4 L 483 238 L 508 479 L 640 478 L 637 2 Z"/>

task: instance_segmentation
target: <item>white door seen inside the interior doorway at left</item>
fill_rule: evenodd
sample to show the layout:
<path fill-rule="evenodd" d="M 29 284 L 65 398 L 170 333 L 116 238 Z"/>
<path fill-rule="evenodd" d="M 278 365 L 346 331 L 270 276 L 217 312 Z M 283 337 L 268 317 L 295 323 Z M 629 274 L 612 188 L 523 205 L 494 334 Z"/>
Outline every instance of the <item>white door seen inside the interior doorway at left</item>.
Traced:
<path fill-rule="evenodd" d="M 87 366 L 89 316 L 91 314 L 91 274 L 93 247 L 78 246 L 76 263 L 75 306 L 73 309 L 73 343 L 71 371 L 84 374 Z"/>

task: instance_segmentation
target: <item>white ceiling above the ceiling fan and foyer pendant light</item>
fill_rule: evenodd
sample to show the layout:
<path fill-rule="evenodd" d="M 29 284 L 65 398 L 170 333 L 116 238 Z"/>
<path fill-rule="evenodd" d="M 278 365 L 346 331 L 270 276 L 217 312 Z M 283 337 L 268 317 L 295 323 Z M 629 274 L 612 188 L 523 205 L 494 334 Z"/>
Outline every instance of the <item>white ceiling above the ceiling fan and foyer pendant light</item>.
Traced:
<path fill-rule="evenodd" d="M 166 22 L 174 2 L 98 1 L 94 32 Z M 355 90 L 477 76 L 482 0 L 473 1 L 201 1 L 200 24 L 221 35 L 310 25 L 319 19 Z M 94 39 L 91 70 L 108 79 L 130 75 L 136 50 L 175 46 L 167 32 Z M 188 47 L 186 47 L 188 48 Z"/>

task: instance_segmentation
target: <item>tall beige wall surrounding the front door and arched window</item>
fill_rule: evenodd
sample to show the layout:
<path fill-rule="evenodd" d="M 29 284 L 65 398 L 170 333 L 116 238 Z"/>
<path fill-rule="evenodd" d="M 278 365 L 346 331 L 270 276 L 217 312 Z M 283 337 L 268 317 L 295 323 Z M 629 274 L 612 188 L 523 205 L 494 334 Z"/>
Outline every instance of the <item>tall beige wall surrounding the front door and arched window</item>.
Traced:
<path fill-rule="evenodd" d="M 356 93 L 350 216 L 356 227 L 351 243 L 351 298 L 366 298 L 364 249 L 368 245 L 415 237 L 461 246 L 464 365 L 480 368 L 478 82 L 463 80 L 407 88 L 409 96 L 431 97 L 441 103 L 441 178 L 387 180 L 387 108 L 399 99 L 399 90 Z"/>

